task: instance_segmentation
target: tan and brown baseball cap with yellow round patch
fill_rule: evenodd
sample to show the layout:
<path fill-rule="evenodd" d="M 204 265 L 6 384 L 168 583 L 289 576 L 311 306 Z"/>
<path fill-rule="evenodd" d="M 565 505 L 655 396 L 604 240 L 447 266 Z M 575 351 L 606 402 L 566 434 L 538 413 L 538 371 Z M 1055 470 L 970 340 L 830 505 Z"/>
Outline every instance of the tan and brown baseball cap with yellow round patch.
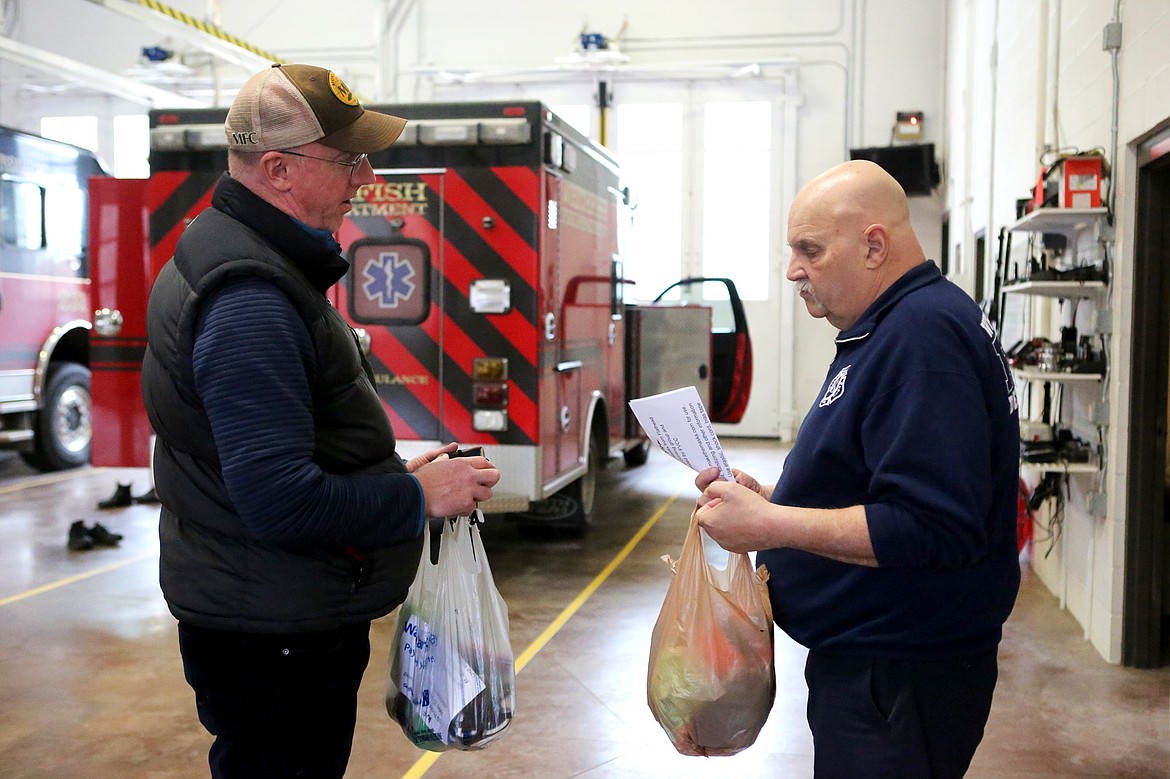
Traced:
<path fill-rule="evenodd" d="M 274 64 L 245 82 L 227 112 L 227 146 L 266 152 L 317 142 L 371 153 L 390 146 L 406 119 L 367 111 L 331 70 Z"/>

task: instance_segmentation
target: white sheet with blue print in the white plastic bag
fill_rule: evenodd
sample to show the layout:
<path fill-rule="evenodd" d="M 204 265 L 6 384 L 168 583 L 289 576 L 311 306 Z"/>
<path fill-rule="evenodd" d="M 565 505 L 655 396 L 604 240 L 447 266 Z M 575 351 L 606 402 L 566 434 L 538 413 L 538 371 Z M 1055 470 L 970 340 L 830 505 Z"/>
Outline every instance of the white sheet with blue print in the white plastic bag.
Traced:
<path fill-rule="evenodd" d="M 450 743 L 450 723 L 486 687 L 480 675 L 426 622 L 412 614 L 402 628 L 401 690 L 443 744 Z M 457 689 L 448 689 L 454 683 Z"/>

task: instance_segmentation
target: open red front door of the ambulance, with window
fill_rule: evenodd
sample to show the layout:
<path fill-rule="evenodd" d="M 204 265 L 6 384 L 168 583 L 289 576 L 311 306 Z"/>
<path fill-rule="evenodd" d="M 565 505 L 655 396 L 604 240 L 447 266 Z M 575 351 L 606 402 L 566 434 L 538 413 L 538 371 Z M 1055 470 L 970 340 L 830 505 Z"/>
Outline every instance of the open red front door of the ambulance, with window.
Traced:
<path fill-rule="evenodd" d="M 751 395 L 751 336 L 739 291 L 730 278 L 683 278 L 654 298 L 655 303 L 679 299 L 711 309 L 710 401 L 713 422 L 735 423 L 743 419 Z"/>

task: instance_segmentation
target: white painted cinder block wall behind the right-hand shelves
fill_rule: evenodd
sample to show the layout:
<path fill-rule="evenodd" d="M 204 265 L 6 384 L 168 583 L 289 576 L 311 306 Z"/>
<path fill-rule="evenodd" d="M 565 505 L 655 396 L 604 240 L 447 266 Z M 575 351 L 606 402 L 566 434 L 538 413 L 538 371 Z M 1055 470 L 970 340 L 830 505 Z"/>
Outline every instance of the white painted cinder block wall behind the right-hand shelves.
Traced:
<path fill-rule="evenodd" d="M 1114 165 L 1116 243 L 1113 255 L 1114 335 L 1112 380 L 1106 397 L 1113 409 L 1106 443 L 1109 467 L 1075 476 L 1067 502 L 1064 536 L 1051 553 L 1037 545 L 1032 563 L 1041 579 L 1081 623 L 1085 637 L 1109 662 L 1121 660 L 1123 544 L 1126 531 L 1128 386 L 1133 322 L 1134 145 L 1170 118 L 1170 57 L 1165 30 L 1170 4 L 1161 0 L 951 0 L 947 76 L 949 144 L 947 208 L 952 241 L 971 250 L 971 235 L 994 235 L 1014 218 L 1039 173 L 1046 145 L 1081 150 L 1110 146 L 1113 73 L 1102 50 L 1102 32 L 1120 6 L 1120 113 Z M 962 226 L 962 227 L 961 227 Z M 1093 247 L 1089 247 L 1093 250 Z M 1038 312 L 1037 326 L 1059 336 L 1059 316 Z M 1066 412 L 1074 425 L 1083 404 Z M 1104 518 L 1085 510 L 1085 495 L 1103 489 Z"/>

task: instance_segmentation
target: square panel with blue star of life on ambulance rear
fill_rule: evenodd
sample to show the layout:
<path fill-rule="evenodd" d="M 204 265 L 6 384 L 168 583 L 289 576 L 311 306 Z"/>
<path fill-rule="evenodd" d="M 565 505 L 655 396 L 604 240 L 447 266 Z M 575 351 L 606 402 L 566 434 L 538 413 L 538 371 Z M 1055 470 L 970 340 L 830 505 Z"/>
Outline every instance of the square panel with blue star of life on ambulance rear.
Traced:
<path fill-rule="evenodd" d="M 429 251 L 421 241 L 358 242 L 350 248 L 353 318 L 418 324 L 428 309 Z"/>

